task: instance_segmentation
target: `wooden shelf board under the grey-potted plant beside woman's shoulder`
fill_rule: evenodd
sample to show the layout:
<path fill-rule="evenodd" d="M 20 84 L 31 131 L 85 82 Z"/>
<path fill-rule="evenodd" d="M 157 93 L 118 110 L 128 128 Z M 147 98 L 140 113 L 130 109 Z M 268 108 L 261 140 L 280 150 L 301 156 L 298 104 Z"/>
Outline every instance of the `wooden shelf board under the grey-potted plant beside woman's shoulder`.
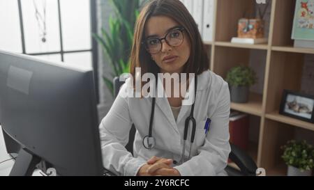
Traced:
<path fill-rule="evenodd" d="M 249 113 L 254 116 L 262 116 L 262 95 L 250 93 L 248 103 L 231 103 L 231 109 Z"/>

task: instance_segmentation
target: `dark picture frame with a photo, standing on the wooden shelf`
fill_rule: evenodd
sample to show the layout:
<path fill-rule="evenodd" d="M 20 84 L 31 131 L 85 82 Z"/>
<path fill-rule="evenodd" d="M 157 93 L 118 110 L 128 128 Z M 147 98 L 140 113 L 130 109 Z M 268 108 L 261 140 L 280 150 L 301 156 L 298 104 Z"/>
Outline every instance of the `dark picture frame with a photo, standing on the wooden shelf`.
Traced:
<path fill-rule="evenodd" d="M 283 90 L 279 113 L 283 116 L 314 123 L 314 95 Z"/>

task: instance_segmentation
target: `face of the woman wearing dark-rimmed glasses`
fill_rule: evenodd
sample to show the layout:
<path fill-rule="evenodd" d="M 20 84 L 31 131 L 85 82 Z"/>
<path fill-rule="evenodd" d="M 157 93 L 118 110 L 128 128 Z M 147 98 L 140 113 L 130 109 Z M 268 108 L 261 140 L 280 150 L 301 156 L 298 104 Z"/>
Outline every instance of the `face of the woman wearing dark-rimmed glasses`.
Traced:
<path fill-rule="evenodd" d="M 177 26 L 180 26 L 170 17 L 155 16 L 147 21 L 145 28 L 145 39 L 153 39 L 150 43 L 154 45 L 156 38 L 174 39 L 179 37 Z M 171 33 L 173 31 L 173 33 Z M 183 42 L 181 45 L 173 47 L 167 44 L 165 40 L 161 41 L 161 49 L 157 54 L 151 54 L 151 58 L 160 68 L 160 72 L 181 73 L 184 70 L 184 65 L 188 62 L 190 57 L 190 42 L 186 31 L 183 31 Z"/>

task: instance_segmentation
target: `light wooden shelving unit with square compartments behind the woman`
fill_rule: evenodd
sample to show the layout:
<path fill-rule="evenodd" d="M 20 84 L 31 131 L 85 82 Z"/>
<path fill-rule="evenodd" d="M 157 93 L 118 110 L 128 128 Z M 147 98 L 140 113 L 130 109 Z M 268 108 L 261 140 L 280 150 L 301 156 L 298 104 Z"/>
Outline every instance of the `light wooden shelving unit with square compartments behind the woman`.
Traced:
<path fill-rule="evenodd" d="M 237 23 L 244 12 L 255 10 L 255 0 L 215 0 L 214 40 L 205 42 L 210 53 L 210 68 L 225 79 L 236 65 L 248 65 L 252 51 L 259 51 L 265 63 L 261 94 L 250 93 L 247 104 L 231 104 L 231 109 L 260 118 L 258 143 L 249 143 L 248 154 L 267 175 L 286 175 L 287 166 L 281 159 L 281 146 L 294 138 L 296 129 L 313 134 L 314 124 L 278 113 L 283 90 L 301 90 L 304 56 L 314 49 L 294 48 L 291 40 L 296 0 L 271 0 L 269 42 L 264 45 L 231 43 L 237 36 Z M 222 11 L 223 10 L 223 11 Z M 231 164 L 232 165 L 232 164 Z"/>

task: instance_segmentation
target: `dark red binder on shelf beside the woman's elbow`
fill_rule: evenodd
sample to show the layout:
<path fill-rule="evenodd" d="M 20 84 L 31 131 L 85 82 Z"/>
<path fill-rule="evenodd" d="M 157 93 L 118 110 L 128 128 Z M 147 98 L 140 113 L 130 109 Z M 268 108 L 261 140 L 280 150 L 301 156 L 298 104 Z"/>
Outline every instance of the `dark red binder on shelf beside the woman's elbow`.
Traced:
<path fill-rule="evenodd" d="M 248 150 L 248 114 L 234 112 L 230 114 L 229 132 L 230 143 L 242 150 Z"/>

